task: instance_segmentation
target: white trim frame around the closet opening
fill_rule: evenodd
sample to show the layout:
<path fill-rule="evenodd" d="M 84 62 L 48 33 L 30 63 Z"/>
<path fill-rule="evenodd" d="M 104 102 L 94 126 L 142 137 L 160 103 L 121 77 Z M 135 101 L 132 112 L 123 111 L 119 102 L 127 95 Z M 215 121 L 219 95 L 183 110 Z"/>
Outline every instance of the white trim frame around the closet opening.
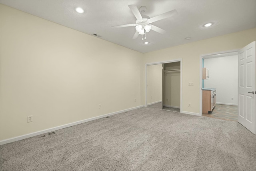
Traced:
<path fill-rule="evenodd" d="M 153 62 L 148 63 L 145 65 L 145 107 L 147 107 L 147 67 L 150 65 L 157 65 L 157 64 L 167 64 L 172 62 L 180 62 L 180 113 L 182 113 L 182 58 L 176 59 L 176 60 L 170 60 L 170 61 L 162 61 L 162 62 Z M 162 85 L 163 86 L 163 85 Z M 163 94 L 162 94 L 163 96 Z M 163 97 L 162 97 L 163 98 Z M 162 101 L 163 103 L 163 101 Z"/>

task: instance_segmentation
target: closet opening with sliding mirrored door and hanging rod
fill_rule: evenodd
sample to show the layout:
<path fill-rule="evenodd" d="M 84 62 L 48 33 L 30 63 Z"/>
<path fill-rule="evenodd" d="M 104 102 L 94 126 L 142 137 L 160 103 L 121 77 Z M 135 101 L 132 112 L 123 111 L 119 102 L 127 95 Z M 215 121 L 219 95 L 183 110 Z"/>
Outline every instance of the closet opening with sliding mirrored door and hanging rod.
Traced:
<path fill-rule="evenodd" d="M 182 60 L 146 64 L 145 106 L 182 113 Z"/>

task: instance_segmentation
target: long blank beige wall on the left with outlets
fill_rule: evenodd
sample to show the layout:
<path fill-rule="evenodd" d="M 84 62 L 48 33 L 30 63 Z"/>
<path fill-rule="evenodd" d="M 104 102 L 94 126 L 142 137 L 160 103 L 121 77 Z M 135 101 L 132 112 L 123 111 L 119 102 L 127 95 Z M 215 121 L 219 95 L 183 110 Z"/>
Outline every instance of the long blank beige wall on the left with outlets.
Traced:
<path fill-rule="evenodd" d="M 0 4 L 0 140 L 142 105 L 142 56 Z"/>

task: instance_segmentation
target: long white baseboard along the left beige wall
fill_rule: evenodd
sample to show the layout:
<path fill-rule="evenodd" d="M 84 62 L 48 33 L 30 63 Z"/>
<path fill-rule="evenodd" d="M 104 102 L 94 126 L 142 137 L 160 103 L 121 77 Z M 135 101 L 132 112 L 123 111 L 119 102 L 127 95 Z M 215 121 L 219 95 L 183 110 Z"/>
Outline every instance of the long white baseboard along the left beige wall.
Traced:
<path fill-rule="evenodd" d="M 56 131 L 58 129 L 63 129 L 63 128 L 66 128 L 66 127 L 71 127 L 71 126 L 78 125 L 78 124 L 81 124 L 81 123 L 85 123 L 85 122 L 88 122 L 88 121 L 93 121 L 95 119 L 100 119 L 102 117 L 107 117 L 107 116 L 115 115 L 115 114 L 118 114 L 118 113 L 122 113 L 122 112 L 130 111 L 130 110 L 138 109 L 140 107 L 144 107 L 144 105 L 137 106 L 137 107 L 132 107 L 130 109 L 124 109 L 124 110 L 116 111 L 116 112 L 113 112 L 113 113 L 108 113 L 108 114 L 105 114 L 105 115 L 91 117 L 89 119 L 84 119 L 84 120 L 81 120 L 81 121 L 76 121 L 76 122 L 68 123 L 68 124 L 65 124 L 65 125 L 60 125 L 60 126 L 57 126 L 57 127 L 52 127 L 52 128 L 49 128 L 49 129 L 44 129 L 42 131 L 28 133 L 28 134 L 25 134 L 25 135 L 20 135 L 18 137 L 4 139 L 4 140 L 0 141 L 0 145 L 4 145 L 4 144 L 7 144 L 7 143 L 12 143 L 14 141 L 19 141 L 19 140 L 30 138 L 30 137 L 34 137 L 36 135 L 40 135 L 40 134 L 43 134 L 43 133 L 48 133 L 48 132 Z"/>

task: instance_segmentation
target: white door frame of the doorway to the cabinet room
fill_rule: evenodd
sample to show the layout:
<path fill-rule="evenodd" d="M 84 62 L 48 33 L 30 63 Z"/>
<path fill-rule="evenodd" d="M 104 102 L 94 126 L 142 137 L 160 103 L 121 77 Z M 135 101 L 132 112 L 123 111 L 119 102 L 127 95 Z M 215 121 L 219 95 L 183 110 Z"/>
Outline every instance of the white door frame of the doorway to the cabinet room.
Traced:
<path fill-rule="evenodd" d="M 214 52 L 214 53 L 209 53 L 209 54 L 202 54 L 199 56 L 199 116 L 203 115 L 202 112 L 202 107 L 203 107 L 203 90 L 202 90 L 202 77 L 203 77 L 203 57 L 204 56 L 210 56 L 210 55 L 218 55 L 218 54 L 226 54 L 226 53 L 232 53 L 232 52 L 237 52 L 240 49 L 234 49 L 234 50 L 226 50 L 222 52 Z M 239 104 L 238 104 L 239 105 Z"/>

